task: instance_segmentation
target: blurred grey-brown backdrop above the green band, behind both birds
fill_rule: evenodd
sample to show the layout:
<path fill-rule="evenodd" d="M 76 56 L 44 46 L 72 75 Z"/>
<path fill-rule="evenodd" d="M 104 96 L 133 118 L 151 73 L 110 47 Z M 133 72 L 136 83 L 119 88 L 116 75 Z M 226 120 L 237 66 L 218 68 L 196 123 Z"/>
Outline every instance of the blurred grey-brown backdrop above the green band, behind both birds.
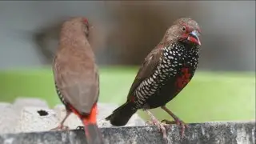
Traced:
<path fill-rule="evenodd" d="M 98 25 L 96 35 L 101 34 L 95 46 L 100 65 L 141 64 L 174 19 L 190 17 L 204 35 L 199 69 L 255 70 L 254 1 L 12 1 L 0 2 L 0 12 L 6 19 L 0 22 L 0 68 L 50 64 L 58 46 L 58 22 L 86 16 Z M 37 46 L 27 33 L 17 38 L 18 30 L 30 31 Z"/>

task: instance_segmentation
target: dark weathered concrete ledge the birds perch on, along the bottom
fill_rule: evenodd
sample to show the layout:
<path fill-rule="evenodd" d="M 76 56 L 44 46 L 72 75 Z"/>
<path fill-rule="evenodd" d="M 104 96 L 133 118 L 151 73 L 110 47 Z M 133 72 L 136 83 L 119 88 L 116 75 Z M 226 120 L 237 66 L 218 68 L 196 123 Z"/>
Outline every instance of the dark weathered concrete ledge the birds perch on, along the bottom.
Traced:
<path fill-rule="evenodd" d="M 185 138 L 181 139 L 178 126 L 166 127 L 171 144 L 255 144 L 255 121 L 206 122 L 189 125 Z M 156 126 L 128 126 L 102 128 L 106 144 L 164 143 Z M 20 134 L 1 134 L 1 144 L 85 144 L 82 130 L 47 131 Z"/>

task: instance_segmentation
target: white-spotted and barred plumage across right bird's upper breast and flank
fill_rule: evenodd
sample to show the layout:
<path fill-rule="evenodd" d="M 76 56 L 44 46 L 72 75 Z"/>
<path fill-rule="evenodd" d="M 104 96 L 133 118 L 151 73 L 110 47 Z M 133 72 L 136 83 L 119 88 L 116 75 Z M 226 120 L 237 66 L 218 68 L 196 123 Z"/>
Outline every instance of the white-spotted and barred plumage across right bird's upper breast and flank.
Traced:
<path fill-rule="evenodd" d="M 159 58 L 160 62 L 157 69 L 149 78 L 142 81 L 135 90 L 135 97 L 138 98 L 138 101 L 135 102 L 137 108 L 145 107 L 146 100 L 156 94 L 168 79 L 174 78 L 183 64 L 194 66 L 194 70 L 197 68 L 198 48 L 190 47 L 190 50 L 186 50 L 184 44 L 174 43 L 170 46 L 162 47 L 162 51 L 162 57 Z"/>

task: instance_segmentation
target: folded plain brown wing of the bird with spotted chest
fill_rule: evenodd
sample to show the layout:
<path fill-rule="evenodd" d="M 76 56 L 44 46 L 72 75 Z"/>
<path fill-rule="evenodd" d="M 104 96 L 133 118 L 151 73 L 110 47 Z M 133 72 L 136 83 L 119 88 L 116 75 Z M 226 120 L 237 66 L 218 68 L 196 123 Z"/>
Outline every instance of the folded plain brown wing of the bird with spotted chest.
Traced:
<path fill-rule="evenodd" d="M 130 100 L 131 97 L 134 96 L 134 90 L 141 84 L 141 82 L 149 78 L 151 74 L 154 73 L 154 70 L 157 69 L 159 58 L 162 57 L 162 45 L 156 46 L 150 54 L 146 56 L 138 73 L 134 79 L 132 86 L 130 87 L 130 91 L 127 96 L 127 100 Z"/>

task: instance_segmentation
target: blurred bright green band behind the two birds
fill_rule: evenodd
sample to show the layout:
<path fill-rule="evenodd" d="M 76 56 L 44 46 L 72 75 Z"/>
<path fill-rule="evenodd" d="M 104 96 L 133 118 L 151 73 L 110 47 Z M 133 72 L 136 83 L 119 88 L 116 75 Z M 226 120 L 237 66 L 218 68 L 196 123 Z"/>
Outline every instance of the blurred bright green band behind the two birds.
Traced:
<path fill-rule="evenodd" d="M 99 102 L 122 104 L 138 67 L 108 66 L 100 69 Z M 26 96 L 43 98 L 50 106 L 60 103 L 50 67 L 2 70 L 0 101 L 13 102 Z M 193 80 L 167 105 L 185 122 L 251 120 L 255 118 L 255 74 L 198 71 Z M 170 118 L 161 109 L 160 119 Z M 147 118 L 141 110 L 138 114 Z"/>

